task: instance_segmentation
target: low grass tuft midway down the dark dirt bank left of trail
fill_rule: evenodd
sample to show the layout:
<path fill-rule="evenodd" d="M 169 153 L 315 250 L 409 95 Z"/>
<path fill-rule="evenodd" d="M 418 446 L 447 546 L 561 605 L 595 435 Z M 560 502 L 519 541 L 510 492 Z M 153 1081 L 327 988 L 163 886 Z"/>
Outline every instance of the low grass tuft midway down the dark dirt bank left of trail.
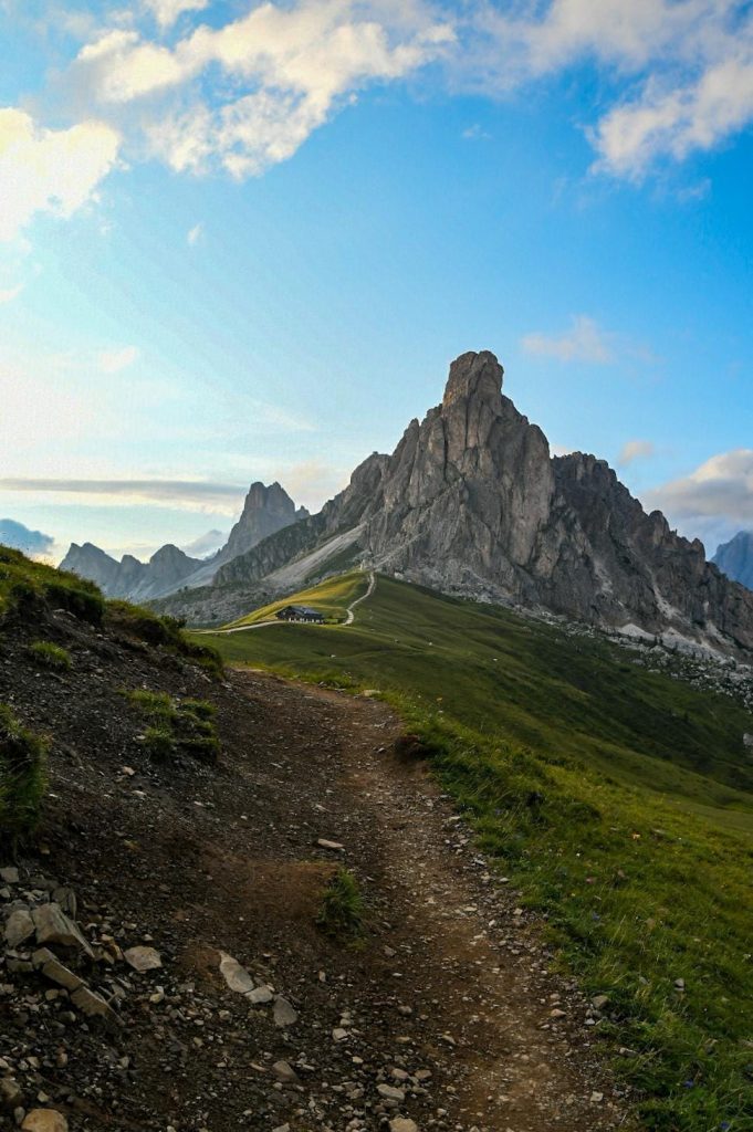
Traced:
<path fill-rule="evenodd" d="M 146 688 L 125 694 L 151 722 L 143 743 L 152 758 L 166 761 L 183 751 L 202 762 L 216 762 L 221 746 L 214 704 L 206 700 L 173 700 L 166 692 Z"/>

